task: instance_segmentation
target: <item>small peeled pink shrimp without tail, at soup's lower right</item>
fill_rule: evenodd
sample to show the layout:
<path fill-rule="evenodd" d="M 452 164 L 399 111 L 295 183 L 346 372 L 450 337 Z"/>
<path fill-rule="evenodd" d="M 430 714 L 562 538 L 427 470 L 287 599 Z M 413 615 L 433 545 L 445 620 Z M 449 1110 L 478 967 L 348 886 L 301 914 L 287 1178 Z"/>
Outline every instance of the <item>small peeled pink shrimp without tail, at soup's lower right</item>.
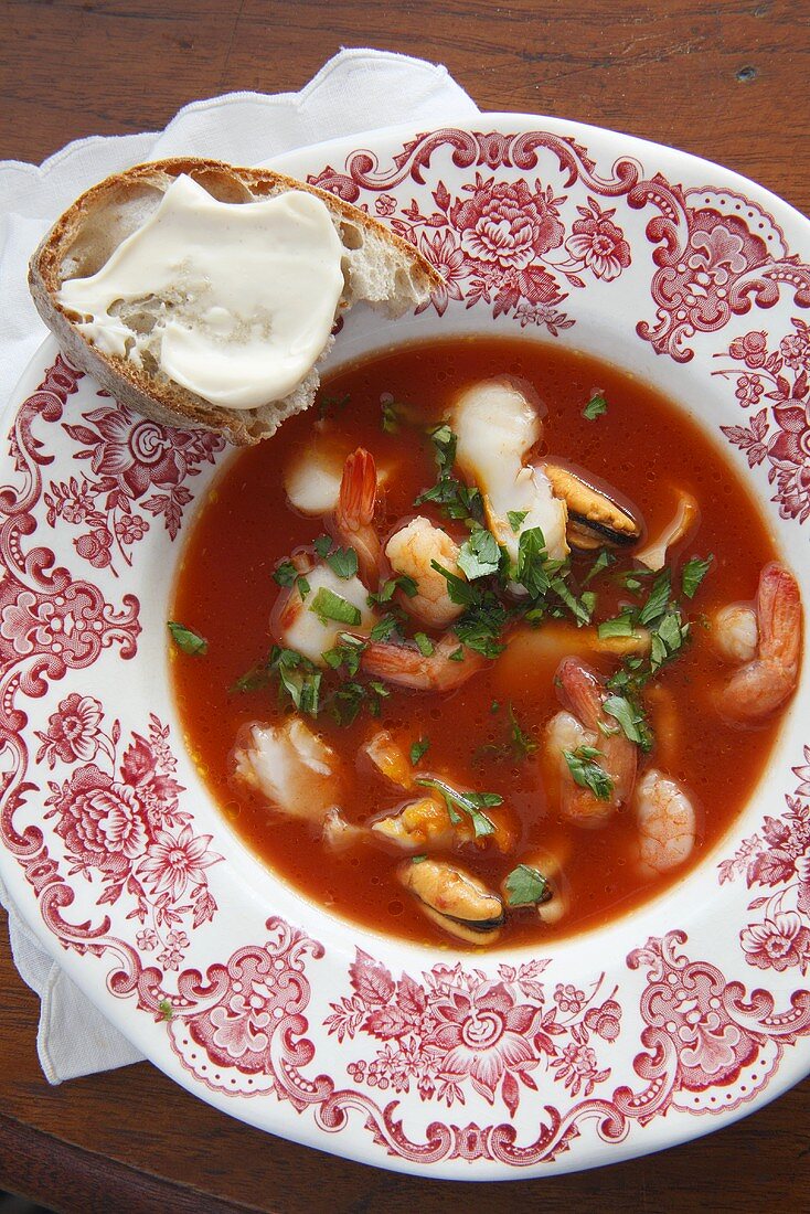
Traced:
<path fill-rule="evenodd" d="M 695 846 L 697 813 L 680 784 L 655 767 L 647 768 L 635 789 L 640 870 L 647 877 L 682 864 Z"/>

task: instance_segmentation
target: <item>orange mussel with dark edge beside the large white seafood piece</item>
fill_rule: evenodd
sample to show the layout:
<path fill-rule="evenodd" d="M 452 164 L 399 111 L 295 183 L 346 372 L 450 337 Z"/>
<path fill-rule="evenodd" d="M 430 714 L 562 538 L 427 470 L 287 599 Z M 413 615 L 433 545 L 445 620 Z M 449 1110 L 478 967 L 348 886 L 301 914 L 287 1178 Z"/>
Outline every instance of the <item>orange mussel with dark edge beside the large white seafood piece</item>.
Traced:
<path fill-rule="evenodd" d="M 628 548 L 641 538 L 640 520 L 617 490 L 562 464 L 546 463 L 543 471 L 555 497 L 568 507 L 566 539 L 571 548 Z"/>

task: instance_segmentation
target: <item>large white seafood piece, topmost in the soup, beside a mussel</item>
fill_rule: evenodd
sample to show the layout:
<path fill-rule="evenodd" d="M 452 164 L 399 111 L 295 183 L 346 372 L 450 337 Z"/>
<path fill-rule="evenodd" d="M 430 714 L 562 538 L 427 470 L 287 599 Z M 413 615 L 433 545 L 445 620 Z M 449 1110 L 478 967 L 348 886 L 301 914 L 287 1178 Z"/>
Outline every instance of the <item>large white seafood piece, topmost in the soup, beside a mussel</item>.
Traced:
<path fill-rule="evenodd" d="M 528 384 L 502 376 L 472 385 L 455 402 L 452 425 L 463 473 L 483 494 L 489 531 L 517 566 L 520 533 L 543 532 L 551 560 L 568 552 L 567 509 L 540 467 L 526 459 L 540 438 L 540 402 Z M 517 532 L 509 521 L 522 515 Z"/>

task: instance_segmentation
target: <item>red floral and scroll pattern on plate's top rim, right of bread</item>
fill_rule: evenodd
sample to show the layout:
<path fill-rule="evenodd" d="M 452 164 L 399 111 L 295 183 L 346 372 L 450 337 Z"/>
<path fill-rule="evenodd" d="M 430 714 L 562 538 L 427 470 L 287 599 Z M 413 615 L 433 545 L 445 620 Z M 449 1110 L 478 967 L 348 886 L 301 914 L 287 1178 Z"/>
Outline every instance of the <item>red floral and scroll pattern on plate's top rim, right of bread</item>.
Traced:
<path fill-rule="evenodd" d="M 631 158 L 618 159 L 613 176 L 602 178 L 582 144 L 546 131 L 503 135 L 448 127 L 406 143 L 389 170 L 380 171 L 372 153 L 355 152 L 345 171 L 328 165 L 308 180 L 353 203 L 361 202 L 363 191 L 385 191 L 375 200 L 385 200 L 378 214 L 395 216 L 387 191 L 406 181 L 423 186 L 431 159 L 443 148 L 452 148 L 457 170 L 486 165 L 500 174 L 476 172 L 461 187 L 471 195 L 466 199 L 458 189 L 453 195 L 438 178 L 430 194 L 435 210 L 427 209 L 427 198 L 421 204 L 412 198 L 390 220 L 448 279 L 449 289 L 434 296 L 440 314 L 448 299 L 459 299 L 460 280 L 469 278 L 461 293 L 466 307 L 483 300 L 492 304 L 493 317 L 514 314 L 521 327 L 536 324 L 551 336 L 571 328 L 576 317 L 559 308 L 567 299 L 562 280 L 582 289 L 582 274 L 590 273 L 610 283 L 631 262 L 617 209 L 602 210 L 597 197 L 623 198 L 628 219 L 633 210 L 653 206 L 658 211 L 646 226 L 646 237 L 656 245 L 650 293 L 657 320 L 636 324 L 636 333 L 656 353 L 689 362 L 693 358 L 686 345 L 690 337 L 724 328 L 754 302 L 772 307 L 783 287 L 793 291 L 797 305 L 810 306 L 810 266 L 788 251 L 782 229 L 758 204 L 731 191 L 685 189 L 662 174 L 645 178 Z M 560 185 L 542 177 L 529 183 L 538 149 L 556 158 Z M 512 169 L 521 176 L 503 180 Z M 559 192 L 574 186 L 589 192 L 584 204 L 574 202 L 573 189 Z M 574 211 L 579 219 L 571 217 L 566 238 Z M 430 232 L 441 233 L 441 242 L 436 236 L 430 239 Z M 567 260 L 555 256 L 562 245 Z"/>

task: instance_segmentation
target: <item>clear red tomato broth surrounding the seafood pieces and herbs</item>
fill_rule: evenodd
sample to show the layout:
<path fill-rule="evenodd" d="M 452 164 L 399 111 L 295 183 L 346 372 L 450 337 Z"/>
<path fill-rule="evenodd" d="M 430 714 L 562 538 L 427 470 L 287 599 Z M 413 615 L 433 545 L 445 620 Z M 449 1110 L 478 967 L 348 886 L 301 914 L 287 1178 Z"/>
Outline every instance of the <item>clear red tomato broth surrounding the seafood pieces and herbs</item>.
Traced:
<path fill-rule="evenodd" d="M 726 602 L 752 600 L 759 572 L 775 558 L 775 550 L 731 465 L 651 387 L 614 367 L 556 346 L 481 336 L 395 348 L 340 370 L 322 387 L 325 432 L 340 435 L 352 449 L 367 447 L 378 461 L 396 470 L 384 498 L 386 529 L 397 517 L 413 514 L 414 498 L 435 482 L 436 469 L 424 426 L 403 426 L 397 435 L 384 432 L 381 395 L 391 393 L 429 424 L 446 415 L 459 390 L 500 374 L 522 376 L 539 392 L 548 408 L 544 449 L 590 470 L 625 494 L 641 511 L 650 534 L 672 518 L 675 487 L 692 493 L 699 503 L 701 523 L 678 563 L 693 555 L 714 556 L 693 602 L 685 603 L 693 640 L 661 671 L 656 690 L 646 697 L 658 742 L 642 766 L 659 766 L 681 782 L 699 811 L 690 861 L 664 877 L 651 879 L 639 872 L 629 809 L 600 830 L 584 830 L 560 817 L 554 795 L 546 793 L 542 756 L 543 727 L 560 708 L 554 687 L 556 659 L 549 663 L 538 656 L 531 639 L 509 648 L 452 694 L 395 687 L 383 702 L 379 720 L 363 713 L 355 724 L 341 727 L 328 713 L 317 719 L 317 731 L 341 756 L 349 773 L 342 806 L 349 819 L 368 821 L 402 801 L 402 794 L 397 796 L 381 781 L 356 775 L 358 747 L 384 727 L 406 749 L 418 738 L 430 738 L 423 770 L 452 772 L 459 788 L 494 790 L 504 798 L 519 832 L 517 852 L 509 857 L 476 852 L 460 861 L 492 889 L 532 845 L 550 847 L 563 857 L 567 914 L 551 926 L 537 910 L 521 910 L 510 914 L 500 936 L 502 944 L 527 944 L 599 927 L 682 880 L 746 805 L 778 722 L 740 730 L 720 720 L 712 694 L 727 677 L 729 668 L 715 656 L 709 632 L 701 624 Z M 602 391 L 608 409 L 588 420 L 583 407 L 594 388 Z M 277 812 L 232 778 L 231 753 L 240 727 L 254 721 L 279 722 L 287 713 L 274 686 L 244 694 L 230 688 L 268 653 L 268 617 L 281 592 L 273 569 L 294 549 L 323 534 L 319 518 L 301 517 L 289 507 L 282 478 L 287 463 L 311 442 L 317 415 L 318 405 L 287 421 L 271 441 L 240 452 L 210 492 L 187 541 L 172 617 L 209 642 L 205 657 L 174 652 L 175 694 L 187 744 L 233 829 L 274 873 L 318 906 L 395 936 L 465 947 L 429 923 L 402 889 L 395 875 L 401 855 L 368 844 L 333 855 L 311 826 Z M 582 568 L 590 561 L 593 557 Z M 627 601 L 610 572 L 591 585 L 599 592 L 597 618 L 610 617 Z M 605 657 L 588 660 L 605 674 L 618 665 Z M 522 760 L 503 753 L 509 704 L 523 731 L 538 742 L 537 751 Z M 482 751 L 487 747 L 498 751 Z"/>

